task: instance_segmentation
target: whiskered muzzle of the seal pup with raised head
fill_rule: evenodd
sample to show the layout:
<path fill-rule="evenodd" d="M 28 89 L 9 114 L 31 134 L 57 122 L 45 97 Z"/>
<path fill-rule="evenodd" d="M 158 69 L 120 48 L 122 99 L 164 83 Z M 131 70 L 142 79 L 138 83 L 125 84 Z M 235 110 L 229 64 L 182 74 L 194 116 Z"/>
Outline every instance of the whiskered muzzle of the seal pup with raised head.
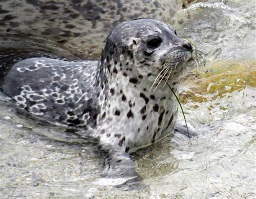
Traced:
<path fill-rule="evenodd" d="M 157 87 L 160 85 L 160 83 L 164 80 L 165 85 L 167 84 L 167 81 L 169 79 L 173 78 L 173 75 L 178 73 L 184 68 L 184 65 L 188 61 L 194 61 L 199 68 L 199 66 L 204 65 L 202 60 L 204 61 L 203 57 L 201 56 L 201 51 L 198 50 L 175 50 L 169 53 L 165 58 L 163 59 L 163 62 L 160 67 L 157 68 L 157 70 L 153 73 L 158 75 L 156 79 L 154 80 L 154 83 L 151 86 L 151 89 L 156 85 L 153 92 L 156 91 Z"/>

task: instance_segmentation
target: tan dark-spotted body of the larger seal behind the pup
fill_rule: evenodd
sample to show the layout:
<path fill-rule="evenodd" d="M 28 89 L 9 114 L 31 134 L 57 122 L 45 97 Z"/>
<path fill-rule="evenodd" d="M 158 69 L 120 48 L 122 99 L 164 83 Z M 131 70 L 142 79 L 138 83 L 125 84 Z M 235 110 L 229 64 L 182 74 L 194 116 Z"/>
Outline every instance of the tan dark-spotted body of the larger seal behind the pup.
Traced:
<path fill-rule="evenodd" d="M 62 48 L 76 49 L 79 57 L 96 58 L 107 34 L 117 24 L 138 17 L 168 20 L 181 5 L 181 0 L 2 1 L 0 33 L 44 38 Z"/>

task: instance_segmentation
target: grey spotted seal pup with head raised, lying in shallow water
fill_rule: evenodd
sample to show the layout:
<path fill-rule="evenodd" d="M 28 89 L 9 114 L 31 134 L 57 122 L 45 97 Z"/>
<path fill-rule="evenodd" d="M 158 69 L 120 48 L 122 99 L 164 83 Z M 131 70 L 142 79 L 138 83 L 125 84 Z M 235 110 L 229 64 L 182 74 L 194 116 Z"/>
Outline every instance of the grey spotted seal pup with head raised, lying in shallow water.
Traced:
<path fill-rule="evenodd" d="M 18 59 L 0 71 L 0 86 L 30 115 L 79 129 L 112 147 L 119 155 L 107 157 L 109 169 L 123 169 L 123 160 L 131 168 L 127 153 L 172 132 L 178 102 L 165 84 L 177 92 L 181 73 L 194 56 L 191 44 L 170 25 L 134 19 L 107 36 L 99 61 Z"/>

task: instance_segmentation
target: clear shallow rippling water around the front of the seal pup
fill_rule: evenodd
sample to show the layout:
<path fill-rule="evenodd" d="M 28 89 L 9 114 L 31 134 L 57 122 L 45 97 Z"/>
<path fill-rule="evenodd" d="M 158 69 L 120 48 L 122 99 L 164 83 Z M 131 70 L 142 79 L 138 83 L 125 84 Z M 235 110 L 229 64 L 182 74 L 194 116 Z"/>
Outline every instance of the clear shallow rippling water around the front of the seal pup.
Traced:
<path fill-rule="evenodd" d="M 198 135 L 190 144 L 175 133 L 133 154 L 139 189 L 110 186 L 118 182 L 100 178 L 96 148 L 49 139 L 1 102 L 0 198 L 255 198 L 255 19 L 254 0 L 197 3 L 170 19 L 206 59 L 181 83 Z"/>

